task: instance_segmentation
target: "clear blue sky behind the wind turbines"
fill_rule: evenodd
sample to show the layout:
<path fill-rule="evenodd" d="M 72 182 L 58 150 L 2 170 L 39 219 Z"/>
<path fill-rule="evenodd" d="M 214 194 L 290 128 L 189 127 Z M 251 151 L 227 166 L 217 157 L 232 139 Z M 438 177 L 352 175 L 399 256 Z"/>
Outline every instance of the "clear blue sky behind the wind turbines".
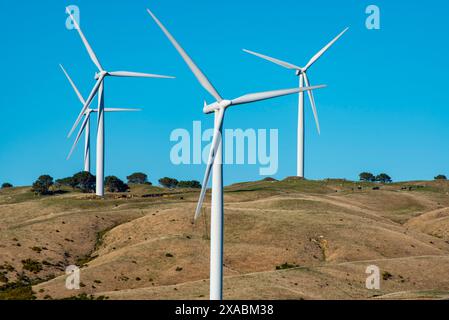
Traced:
<path fill-rule="evenodd" d="M 79 0 L 0 2 L 0 182 L 30 184 L 82 168 L 82 144 L 66 161 L 66 135 L 80 104 L 61 73 L 63 63 L 84 95 L 95 67 L 75 31 L 65 28 L 66 5 L 81 9 L 81 26 L 109 70 L 175 75 L 176 80 L 108 79 L 106 104 L 142 107 L 140 114 L 108 115 L 106 174 L 144 171 L 202 180 L 203 165 L 174 166 L 175 128 L 202 114 L 211 97 L 145 11 L 150 7 L 229 98 L 297 85 L 297 78 L 244 54 L 260 51 L 303 65 L 344 27 L 351 29 L 310 69 L 322 134 L 306 107 L 306 174 L 311 179 L 356 179 L 364 170 L 395 180 L 449 174 L 449 4 L 443 0 L 376 0 L 381 30 L 365 28 L 361 0 Z M 227 113 L 226 128 L 279 129 L 277 178 L 296 171 L 297 97 L 261 102 Z M 256 180 L 259 166 L 226 166 L 225 183 Z"/>

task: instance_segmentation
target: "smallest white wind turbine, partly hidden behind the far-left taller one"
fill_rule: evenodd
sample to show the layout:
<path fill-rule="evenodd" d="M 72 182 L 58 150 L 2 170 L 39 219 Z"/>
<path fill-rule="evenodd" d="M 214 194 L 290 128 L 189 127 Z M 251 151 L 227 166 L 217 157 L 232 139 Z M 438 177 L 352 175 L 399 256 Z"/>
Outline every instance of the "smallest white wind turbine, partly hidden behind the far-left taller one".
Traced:
<path fill-rule="evenodd" d="M 69 81 L 70 85 L 72 86 L 73 90 L 75 91 L 76 95 L 78 96 L 78 99 L 80 100 L 81 104 L 84 106 L 86 103 L 86 100 L 81 95 L 80 91 L 76 87 L 75 83 L 73 82 L 72 78 L 68 74 L 68 72 L 64 69 L 64 66 L 62 64 L 59 65 L 64 72 L 65 76 L 67 77 L 67 80 Z M 122 109 L 122 108 L 105 108 L 105 112 L 135 112 L 135 111 L 141 111 L 140 109 Z M 84 171 L 90 172 L 90 115 L 92 113 L 98 112 L 98 109 L 91 109 L 90 107 L 86 110 L 84 113 L 84 121 L 81 125 L 81 128 L 78 132 L 78 135 L 75 139 L 75 143 L 72 146 L 72 149 L 70 150 L 70 153 L 67 157 L 67 160 L 70 159 L 72 156 L 73 151 L 75 150 L 76 145 L 78 144 L 79 139 L 81 138 L 82 133 L 84 132 L 85 141 L 84 141 Z"/>

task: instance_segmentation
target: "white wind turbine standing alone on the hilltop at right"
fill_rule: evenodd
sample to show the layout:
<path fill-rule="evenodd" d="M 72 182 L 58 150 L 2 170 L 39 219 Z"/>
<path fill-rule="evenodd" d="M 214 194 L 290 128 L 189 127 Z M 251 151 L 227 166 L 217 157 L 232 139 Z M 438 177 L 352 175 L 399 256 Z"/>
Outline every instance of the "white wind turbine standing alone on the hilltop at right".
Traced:
<path fill-rule="evenodd" d="M 309 78 L 307 76 L 307 71 L 309 70 L 309 68 L 319 59 L 321 58 L 321 56 L 327 51 L 329 50 L 330 47 L 332 47 L 332 45 L 337 42 L 338 39 L 340 39 L 341 36 L 343 36 L 343 34 L 346 33 L 346 31 L 348 31 L 349 28 L 346 28 L 345 30 L 343 30 L 343 32 L 341 32 L 337 37 L 335 37 L 331 42 L 329 42 L 323 49 L 321 49 L 320 51 L 318 51 L 317 54 L 315 54 L 312 59 L 310 59 L 310 61 L 306 64 L 305 67 L 298 67 L 294 64 L 279 60 L 279 59 L 275 59 L 254 51 L 249 51 L 246 49 L 243 49 L 243 51 L 245 51 L 246 53 L 255 55 L 259 58 L 268 60 L 270 62 L 273 62 L 277 65 L 280 65 L 284 68 L 290 69 L 290 70 L 295 70 L 296 71 L 296 75 L 299 77 L 299 87 L 302 88 L 305 86 L 310 86 L 310 82 L 309 82 Z M 315 98 L 313 96 L 313 92 L 312 91 L 308 91 L 308 95 L 309 95 L 309 99 L 310 99 L 310 104 L 312 106 L 312 111 L 313 111 L 313 116 L 315 117 L 315 123 L 316 123 L 316 127 L 318 130 L 318 134 L 320 134 L 320 122 L 318 120 L 318 113 L 316 111 L 316 106 L 315 106 Z M 304 178 L 304 91 L 301 91 L 299 93 L 299 105 L 298 105 L 298 149 L 297 149 L 297 176 Z"/>

